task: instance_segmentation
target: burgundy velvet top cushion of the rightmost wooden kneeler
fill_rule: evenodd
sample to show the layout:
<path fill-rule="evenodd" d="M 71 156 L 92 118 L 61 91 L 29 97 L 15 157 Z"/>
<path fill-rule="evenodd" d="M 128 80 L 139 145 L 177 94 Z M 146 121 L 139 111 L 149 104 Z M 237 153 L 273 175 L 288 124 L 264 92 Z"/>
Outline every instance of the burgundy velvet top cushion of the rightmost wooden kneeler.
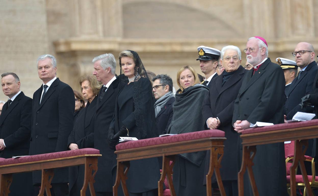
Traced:
<path fill-rule="evenodd" d="M 281 129 L 292 129 L 292 128 L 298 128 L 298 127 L 313 126 L 313 125 L 318 125 L 318 119 L 295 122 L 295 123 L 282 123 L 282 124 L 271 125 L 271 126 L 249 128 L 249 129 L 242 130 L 241 133 L 248 134 L 248 133 L 256 133 L 256 132 L 275 131 L 275 130 L 281 130 Z"/>

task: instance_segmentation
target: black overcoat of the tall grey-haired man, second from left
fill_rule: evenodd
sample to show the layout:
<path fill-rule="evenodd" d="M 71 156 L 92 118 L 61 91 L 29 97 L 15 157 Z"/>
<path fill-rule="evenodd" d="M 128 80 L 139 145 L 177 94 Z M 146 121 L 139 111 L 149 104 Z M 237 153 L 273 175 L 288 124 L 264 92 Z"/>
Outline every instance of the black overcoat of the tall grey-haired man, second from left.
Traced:
<path fill-rule="evenodd" d="M 73 129 L 73 89 L 56 78 L 39 104 L 42 86 L 32 100 L 31 155 L 68 150 L 67 139 Z M 41 171 L 33 172 L 33 184 L 38 183 Z M 68 183 L 68 168 L 55 169 L 52 183 Z"/>

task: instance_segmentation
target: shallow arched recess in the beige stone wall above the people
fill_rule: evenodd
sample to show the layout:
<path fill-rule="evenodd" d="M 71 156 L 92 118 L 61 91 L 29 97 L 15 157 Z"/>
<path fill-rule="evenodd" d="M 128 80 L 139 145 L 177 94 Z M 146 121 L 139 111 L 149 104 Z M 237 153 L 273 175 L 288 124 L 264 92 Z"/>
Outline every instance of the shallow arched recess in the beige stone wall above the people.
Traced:
<path fill-rule="evenodd" d="M 228 39 L 244 36 L 222 17 L 182 2 L 122 2 L 123 38 Z"/>

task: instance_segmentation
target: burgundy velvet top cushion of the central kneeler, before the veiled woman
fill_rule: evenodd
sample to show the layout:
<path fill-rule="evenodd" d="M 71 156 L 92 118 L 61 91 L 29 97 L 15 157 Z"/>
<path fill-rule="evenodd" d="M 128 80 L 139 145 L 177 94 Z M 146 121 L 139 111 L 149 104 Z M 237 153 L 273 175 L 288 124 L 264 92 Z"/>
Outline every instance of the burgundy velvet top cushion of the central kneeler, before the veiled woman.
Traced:
<path fill-rule="evenodd" d="M 225 133 L 223 131 L 220 131 L 217 129 L 212 129 L 212 130 L 205 130 L 205 131 L 182 133 L 182 134 L 178 134 L 178 135 L 171 135 L 171 136 L 165 136 L 165 137 L 140 139 L 140 140 L 120 143 L 120 144 L 116 145 L 116 150 L 136 148 L 136 147 L 149 146 L 149 145 L 180 142 L 180 141 L 186 141 L 186 140 L 191 140 L 191 139 L 211 138 L 211 137 L 213 137 L 213 138 L 225 137 Z"/>

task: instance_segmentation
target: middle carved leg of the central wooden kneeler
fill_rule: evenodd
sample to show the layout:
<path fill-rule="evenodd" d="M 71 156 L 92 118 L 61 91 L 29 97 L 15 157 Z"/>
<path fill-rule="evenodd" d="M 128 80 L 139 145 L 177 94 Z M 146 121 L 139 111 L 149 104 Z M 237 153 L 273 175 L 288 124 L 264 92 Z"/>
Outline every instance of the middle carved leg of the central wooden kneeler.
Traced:
<path fill-rule="evenodd" d="M 170 161 L 172 164 L 170 165 Z M 172 168 L 175 163 L 175 155 L 172 156 L 162 156 L 162 172 L 160 180 L 158 181 L 158 195 L 163 196 L 163 181 L 167 177 L 170 194 L 171 196 L 176 196 L 175 188 L 172 182 Z"/>

